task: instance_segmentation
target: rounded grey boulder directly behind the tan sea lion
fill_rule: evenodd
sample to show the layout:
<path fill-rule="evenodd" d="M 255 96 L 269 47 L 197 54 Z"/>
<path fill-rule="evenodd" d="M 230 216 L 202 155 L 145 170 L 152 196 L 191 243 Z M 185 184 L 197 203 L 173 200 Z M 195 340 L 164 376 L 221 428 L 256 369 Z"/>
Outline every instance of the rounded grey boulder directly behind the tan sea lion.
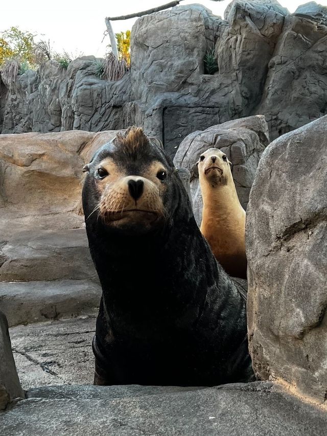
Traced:
<path fill-rule="evenodd" d="M 226 153 L 233 164 L 232 175 L 240 202 L 246 209 L 255 170 L 268 143 L 268 126 L 260 115 L 211 126 L 186 136 L 177 150 L 174 164 L 191 172 L 193 212 L 198 224 L 201 223 L 203 207 L 196 165 L 200 154 L 211 147 Z"/>

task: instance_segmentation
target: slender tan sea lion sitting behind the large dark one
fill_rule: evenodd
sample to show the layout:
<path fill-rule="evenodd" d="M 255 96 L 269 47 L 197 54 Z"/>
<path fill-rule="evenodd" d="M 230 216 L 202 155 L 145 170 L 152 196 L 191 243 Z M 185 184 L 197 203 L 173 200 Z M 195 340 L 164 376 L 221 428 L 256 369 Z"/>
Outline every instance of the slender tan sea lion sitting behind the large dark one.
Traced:
<path fill-rule="evenodd" d="M 201 233 L 226 272 L 246 279 L 245 211 L 225 153 L 209 148 L 199 158 L 203 198 Z"/>

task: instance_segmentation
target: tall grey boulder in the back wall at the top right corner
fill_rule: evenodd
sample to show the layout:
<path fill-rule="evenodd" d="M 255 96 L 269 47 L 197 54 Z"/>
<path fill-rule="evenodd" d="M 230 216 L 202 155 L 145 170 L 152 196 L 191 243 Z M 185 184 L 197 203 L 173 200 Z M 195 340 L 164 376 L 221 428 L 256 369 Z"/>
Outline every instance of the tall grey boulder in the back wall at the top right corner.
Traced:
<path fill-rule="evenodd" d="M 285 18 L 257 113 L 272 139 L 327 112 L 327 8 L 311 2 Z"/>

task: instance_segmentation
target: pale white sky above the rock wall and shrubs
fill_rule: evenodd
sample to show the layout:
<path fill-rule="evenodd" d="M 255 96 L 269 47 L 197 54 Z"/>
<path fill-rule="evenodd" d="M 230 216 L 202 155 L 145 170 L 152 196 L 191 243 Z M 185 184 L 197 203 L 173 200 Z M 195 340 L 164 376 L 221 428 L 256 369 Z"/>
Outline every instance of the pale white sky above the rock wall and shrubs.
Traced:
<path fill-rule="evenodd" d="M 2 0 L 0 13 L 0 31 L 18 26 L 20 30 L 30 31 L 34 35 L 42 35 L 41 39 L 50 39 L 54 50 L 66 50 L 74 56 L 84 55 L 104 56 L 107 36 L 103 42 L 106 30 L 106 16 L 127 15 L 169 3 L 171 0 Z M 309 0 L 279 0 L 279 3 L 290 12 Z M 215 15 L 223 17 L 230 0 L 213 2 L 211 0 L 184 1 L 181 5 L 199 3 L 211 9 Z M 318 2 L 317 2 L 318 3 Z M 319 3 L 327 6 L 327 0 Z M 120 32 L 131 29 L 134 19 L 112 21 L 113 31 Z M 36 40 L 38 38 L 35 38 Z"/>

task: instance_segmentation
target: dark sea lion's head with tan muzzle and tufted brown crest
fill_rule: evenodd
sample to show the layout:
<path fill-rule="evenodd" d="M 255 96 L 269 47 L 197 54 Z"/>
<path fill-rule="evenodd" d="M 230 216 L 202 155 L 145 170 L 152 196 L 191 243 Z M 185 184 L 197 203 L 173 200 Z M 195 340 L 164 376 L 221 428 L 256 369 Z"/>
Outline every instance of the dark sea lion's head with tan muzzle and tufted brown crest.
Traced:
<path fill-rule="evenodd" d="M 183 189 L 162 144 L 136 127 L 105 144 L 84 171 L 86 223 L 96 218 L 125 233 L 144 234 L 167 225 L 176 211 L 176 189 Z"/>

